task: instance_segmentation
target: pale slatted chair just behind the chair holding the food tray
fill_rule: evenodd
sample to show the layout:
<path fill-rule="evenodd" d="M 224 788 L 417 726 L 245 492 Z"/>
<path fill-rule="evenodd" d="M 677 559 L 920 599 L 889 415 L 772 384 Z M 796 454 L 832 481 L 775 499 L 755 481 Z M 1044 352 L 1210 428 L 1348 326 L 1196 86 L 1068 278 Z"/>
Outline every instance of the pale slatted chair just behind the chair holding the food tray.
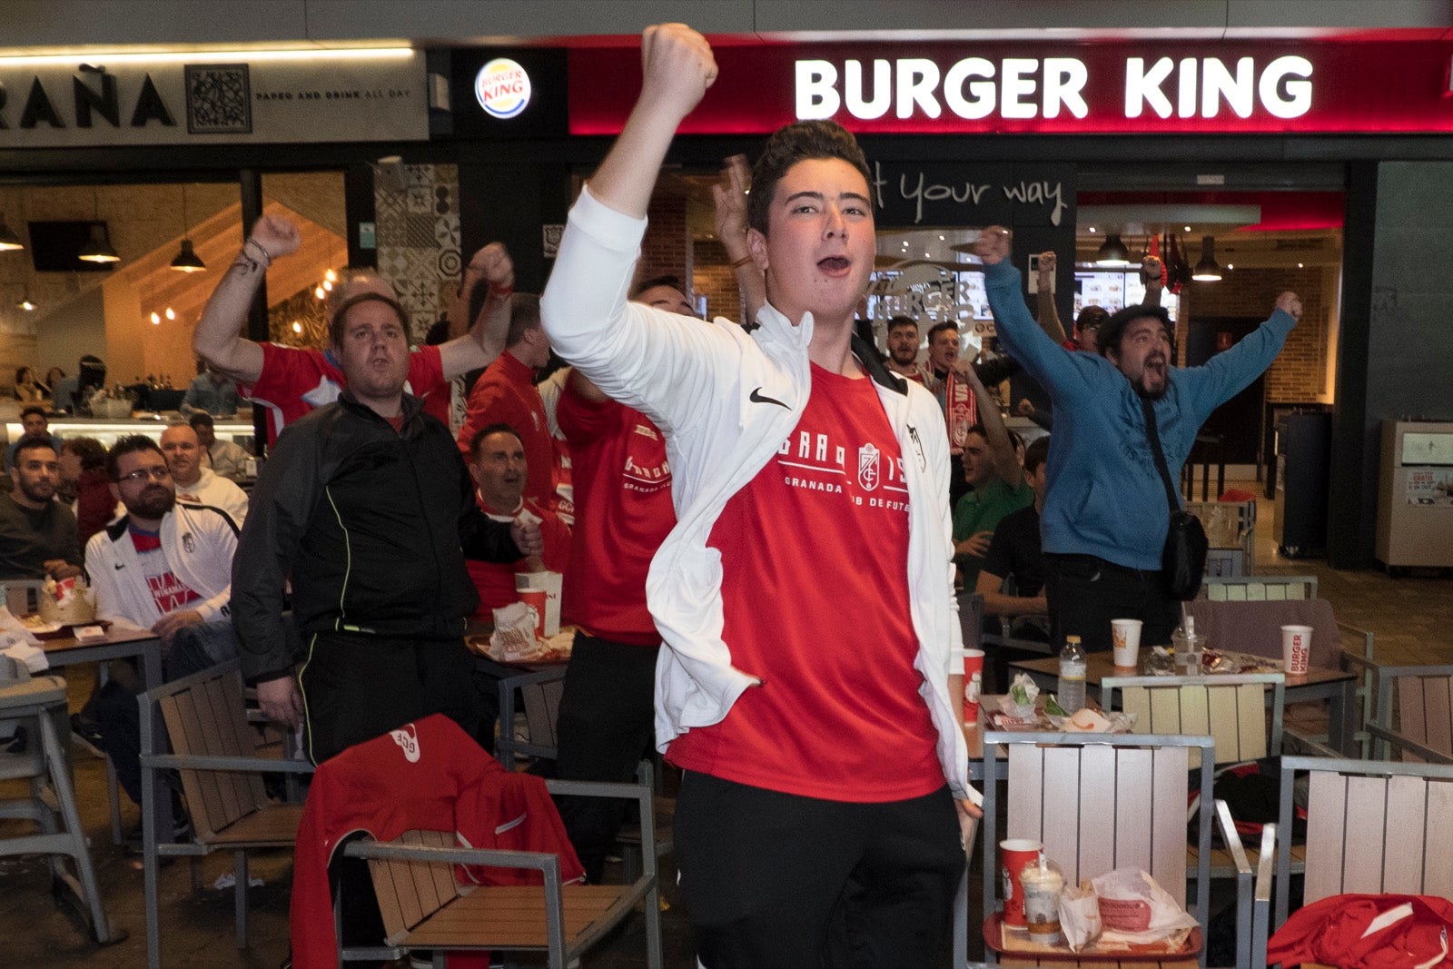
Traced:
<path fill-rule="evenodd" d="M 1271 696 L 1267 696 L 1268 689 Z M 1120 692 L 1120 709 L 1135 715 L 1132 732 L 1209 734 L 1216 744 L 1218 769 L 1282 753 L 1282 715 L 1286 709 L 1286 676 L 1282 673 L 1104 677 L 1100 680 L 1100 699 L 1107 708 L 1114 706 L 1116 690 Z M 1200 767 L 1199 757 L 1200 751 L 1190 753 L 1191 770 Z M 1203 789 L 1202 806 L 1209 796 L 1210 790 Z M 1303 851 L 1303 846 L 1293 847 L 1293 863 Z M 1251 864 L 1258 861 L 1255 848 L 1247 854 Z M 1194 866 L 1196 861 L 1197 850 L 1190 847 L 1187 864 Z M 1212 848 L 1210 876 L 1235 875 L 1234 853 L 1229 848 Z"/>

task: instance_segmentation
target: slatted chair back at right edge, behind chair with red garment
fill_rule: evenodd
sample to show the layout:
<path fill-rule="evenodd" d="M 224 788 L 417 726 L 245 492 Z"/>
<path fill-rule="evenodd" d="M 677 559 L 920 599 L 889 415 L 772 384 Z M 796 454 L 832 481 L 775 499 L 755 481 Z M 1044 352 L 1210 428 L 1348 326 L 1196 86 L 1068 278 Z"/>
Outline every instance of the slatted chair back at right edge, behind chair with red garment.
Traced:
<path fill-rule="evenodd" d="M 1453 764 L 1453 664 L 1380 667 L 1376 710 L 1367 731 L 1377 760 L 1392 748 L 1399 760 Z"/>

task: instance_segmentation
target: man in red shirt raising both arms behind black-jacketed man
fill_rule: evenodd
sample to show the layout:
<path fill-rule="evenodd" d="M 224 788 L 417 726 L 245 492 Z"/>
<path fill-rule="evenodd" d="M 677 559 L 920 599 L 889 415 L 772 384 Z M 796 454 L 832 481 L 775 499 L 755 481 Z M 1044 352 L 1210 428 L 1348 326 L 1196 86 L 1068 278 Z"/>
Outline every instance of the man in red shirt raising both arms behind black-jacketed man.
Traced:
<path fill-rule="evenodd" d="M 257 219 L 243 250 L 216 283 L 192 334 L 193 353 L 218 373 L 237 381 L 238 394 L 269 410 L 269 446 L 283 427 L 308 411 L 336 401 L 347 384 L 331 349 L 257 343 L 241 336 L 247 311 L 267 267 L 275 259 L 298 251 L 301 241 L 298 227 L 280 215 Z M 466 280 L 471 273 L 482 270 L 490 296 L 468 334 L 408 354 L 404 388 L 414 397 L 429 397 L 440 388 L 448 394 L 450 379 L 488 366 L 504 346 L 514 264 L 498 243 L 475 253 L 469 264 Z M 376 272 L 355 270 L 333 288 L 330 317 L 333 307 L 360 292 L 376 292 L 394 299 L 394 288 Z"/>

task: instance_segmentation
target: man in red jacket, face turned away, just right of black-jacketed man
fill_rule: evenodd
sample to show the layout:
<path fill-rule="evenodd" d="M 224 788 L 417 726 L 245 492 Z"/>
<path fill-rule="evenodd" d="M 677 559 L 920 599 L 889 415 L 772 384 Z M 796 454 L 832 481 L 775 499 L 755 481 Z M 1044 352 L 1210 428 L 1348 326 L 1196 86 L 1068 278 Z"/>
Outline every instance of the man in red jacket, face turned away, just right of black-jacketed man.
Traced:
<path fill-rule="evenodd" d="M 459 452 L 468 461 L 469 445 L 487 424 L 509 424 L 525 442 L 529 482 L 525 495 L 555 507 L 559 484 L 555 445 L 549 436 L 545 401 L 535 389 L 535 375 L 549 363 L 549 337 L 541 330 L 539 296 L 516 293 L 510 299 L 510 330 L 504 353 L 488 366 L 469 391 L 469 413 L 459 429 Z"/>

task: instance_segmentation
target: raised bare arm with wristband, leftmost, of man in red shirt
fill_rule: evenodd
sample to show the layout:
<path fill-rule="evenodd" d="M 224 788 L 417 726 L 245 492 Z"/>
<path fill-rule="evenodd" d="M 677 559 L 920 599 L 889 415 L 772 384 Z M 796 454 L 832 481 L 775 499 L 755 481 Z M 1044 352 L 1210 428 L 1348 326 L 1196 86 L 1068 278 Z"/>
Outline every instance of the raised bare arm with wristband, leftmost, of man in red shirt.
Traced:
<path fill-rule="evenodd" d="M 254 384 L 263 372 L 263 349 L 241 336 L 247 312 L 273 259 L 296 251 L 298 228 L 264 215 L 253 225 L 243 251 L 222 275 L 192 333 L 192 352 L 238 384 Z"/>

